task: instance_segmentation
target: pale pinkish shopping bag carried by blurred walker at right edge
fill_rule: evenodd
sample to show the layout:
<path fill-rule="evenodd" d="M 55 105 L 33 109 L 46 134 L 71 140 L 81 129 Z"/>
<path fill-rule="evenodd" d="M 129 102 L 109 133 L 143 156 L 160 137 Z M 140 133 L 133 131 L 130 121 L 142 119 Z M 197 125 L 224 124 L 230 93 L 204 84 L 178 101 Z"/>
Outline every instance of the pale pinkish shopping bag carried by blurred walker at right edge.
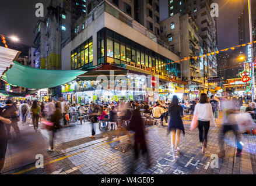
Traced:
<path fill-rule="evenodd" d="M 236 115 L 236 122 L 239 128 L 239 131 L 244 132 L 248 130 L 252 130 L 255 128 L 253 118 L 249 113 L 239 113 Z"/>

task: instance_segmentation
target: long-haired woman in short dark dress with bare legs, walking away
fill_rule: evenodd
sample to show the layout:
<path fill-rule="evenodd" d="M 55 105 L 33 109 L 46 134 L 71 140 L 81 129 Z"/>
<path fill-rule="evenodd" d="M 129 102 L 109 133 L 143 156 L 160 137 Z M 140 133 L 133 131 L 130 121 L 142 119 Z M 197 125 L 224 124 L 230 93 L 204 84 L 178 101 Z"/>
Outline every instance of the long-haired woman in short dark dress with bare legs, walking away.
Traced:
<path fill-rule="evenodd" d="M 183 115 L 182 106 L 178 105 L 178 98 L 176 95 L 173 96 L 173 100 L 168 108 L 170 121 L 168 126 L 168 131 L 172 132 L 172 142 L 171 147 L 174 149 L 174 152 L 180 153 L 178 148 L 178 143 L 180 142 L 180 133 L 183 131 L 185 134 L 183 121 L 181 116 Z"/>

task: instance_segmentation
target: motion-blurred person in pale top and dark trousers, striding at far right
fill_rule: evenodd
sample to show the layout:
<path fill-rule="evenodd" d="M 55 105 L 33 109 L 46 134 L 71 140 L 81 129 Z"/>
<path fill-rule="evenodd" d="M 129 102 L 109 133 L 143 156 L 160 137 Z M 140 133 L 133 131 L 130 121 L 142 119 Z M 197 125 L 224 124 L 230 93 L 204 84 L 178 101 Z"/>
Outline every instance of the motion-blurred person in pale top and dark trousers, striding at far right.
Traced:
<path fill-rule="evenodd" d="M 225 119 L 223 120 L 223 127 L 220 133 L 220 156 L 225 156 L 224 150 L 224 139 L 225 134 L 232 130 L 236 135 L 237 153 L 236 156 L 242 156 L 243 144 L 240 141 L 239 128 L 237 126 L 236 115 L 239 113 L 239 108 L 237 108 L 237 99 L 226 100 L 222 103 L 223 111 L 225 112 Z"/>

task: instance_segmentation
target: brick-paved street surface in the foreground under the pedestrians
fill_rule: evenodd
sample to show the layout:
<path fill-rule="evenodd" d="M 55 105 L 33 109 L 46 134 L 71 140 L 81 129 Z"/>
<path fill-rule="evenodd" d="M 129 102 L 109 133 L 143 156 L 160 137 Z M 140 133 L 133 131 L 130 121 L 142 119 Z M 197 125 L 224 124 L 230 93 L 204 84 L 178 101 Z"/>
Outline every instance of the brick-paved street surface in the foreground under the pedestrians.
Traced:
<path fill-rule="evenodd" d="M 185 124 L 185 135 L 181 135 L 180 140 L 181 153 L 178 155 L 170 149 L 171 136 L 167 135 L 166 127 L 150 127 L 147 130 L 146 142 L 149 147 L 150 162 L 152 162 L 150 169 L 146 169 L 146 161 L 142 156 L 136 162 L 133 161 L 132 150 L 121 152 L 114 148 L 118 144 L 127 144 L 128 138 L 125 136 L 121 137 L 119 141 L 108 139 L 97 130 L 96 139 L 89 139 L 90 126 L 88 123 L 82 126 L 65 127 L 60 131 L 56 140 L 57 152 L 51 154 L 46 153 L 48 135 L 45 131 L 41 130 L 40 133 L 27 131 L 27 134 L 22 131 L 22 135 L 28 135 L 31 140 L 26 139 L 26 141 L 20 142 L 21 144 L 25 142 L 25 146 L 15 143 L 8 145 L 5 167 L 2 172 L 4 174 L 128 174 L 132 165 L 135 165 L 135 174 L 256 174 L 255 135 L 242 135 L 243 157 L 237 158 L 234 156 L 236 152 L 234 135 L 227 133 L 226 156 L 219 158 L 218 168 L 212 169 L 210 166 L 211 155 L 219 153 L 219 128 L 211 128 L 209 131 L 205 156 L 201 155 L 198 130 L 190 131 L 188 128 L 189 124 Z M 34 135 L 37 140 L 33 140 Z M 29 159 L 30 164 L 29 160 L 24 163 L 22 159 L 19 159 L 20 153 L 23 152 L 21 150 L 29 149 L 29 147 L 34 150 L 34 154 L 40 152 L 46 156 L 44 169 L 33 168 L 35 160 L 31 157 L 34 155 Z M 23 153 L 25 154 L 27 151 Z M 26 163 L 28 165 L 24 166 Z M 28 169 L 31 170 L 27 171 Z"/>

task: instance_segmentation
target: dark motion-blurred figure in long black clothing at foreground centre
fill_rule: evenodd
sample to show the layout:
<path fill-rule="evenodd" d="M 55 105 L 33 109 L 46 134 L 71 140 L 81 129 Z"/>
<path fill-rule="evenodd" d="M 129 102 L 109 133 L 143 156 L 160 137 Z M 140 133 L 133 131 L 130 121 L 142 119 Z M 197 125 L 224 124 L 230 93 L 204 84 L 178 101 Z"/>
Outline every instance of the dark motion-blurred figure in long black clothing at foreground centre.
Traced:
<path fill-rule="evenodd" d="M 139 152 L 142 150 L 142 155 L 146 155 L 147 160 L 147 167 L 150 166 L 150 159 L 149 159 L 149 152 L 146 145 L 145 140 L 145 131 L 143 126 L 143 121 L 141 118 L 141 113 L 139 109 L 135 109 L 132 113 L 131 121 L 129 124 L 129 128 L 132 131 L 135 131 L 135 142 L 134 142 L 134 153 L 135 153 L 135 160 L 139 158 Z M 134 173 L 135 163 L 132 163 L 132 170 L 131 173 Z"/>

